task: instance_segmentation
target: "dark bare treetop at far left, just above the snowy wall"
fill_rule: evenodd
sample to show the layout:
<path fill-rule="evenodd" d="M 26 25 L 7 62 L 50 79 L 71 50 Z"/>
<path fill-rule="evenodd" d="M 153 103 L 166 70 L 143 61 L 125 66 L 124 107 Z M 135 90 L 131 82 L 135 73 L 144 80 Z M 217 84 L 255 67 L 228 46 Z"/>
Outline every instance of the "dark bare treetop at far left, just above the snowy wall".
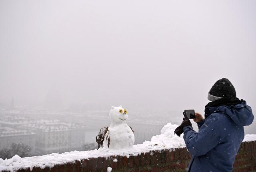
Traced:
<path fill-rule="evenodd" d="M 30 156 L 30 147 L 23 143 L 12 143 L 10 147 L 2 148 L 0 150 L 0 158 L 9 159 L 14 155 L 18 155 L 20 157 Z"/>

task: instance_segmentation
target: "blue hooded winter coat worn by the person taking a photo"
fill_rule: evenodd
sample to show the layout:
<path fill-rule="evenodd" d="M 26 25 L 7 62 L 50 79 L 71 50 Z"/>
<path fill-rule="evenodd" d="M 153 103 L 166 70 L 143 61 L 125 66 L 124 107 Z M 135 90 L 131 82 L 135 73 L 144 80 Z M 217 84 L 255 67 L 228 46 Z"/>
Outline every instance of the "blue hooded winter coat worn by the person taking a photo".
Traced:
<path fill-rule="evenodd" d="M 192 158 L 187 171 L 232 172 L 235 156 L 244 139 L 244 127 L 254 119 L 252 109 L 238 105 L 208 107 L 210 116 L 198 123 L 198 132 L 186 126 L 184 140 Z"/>

